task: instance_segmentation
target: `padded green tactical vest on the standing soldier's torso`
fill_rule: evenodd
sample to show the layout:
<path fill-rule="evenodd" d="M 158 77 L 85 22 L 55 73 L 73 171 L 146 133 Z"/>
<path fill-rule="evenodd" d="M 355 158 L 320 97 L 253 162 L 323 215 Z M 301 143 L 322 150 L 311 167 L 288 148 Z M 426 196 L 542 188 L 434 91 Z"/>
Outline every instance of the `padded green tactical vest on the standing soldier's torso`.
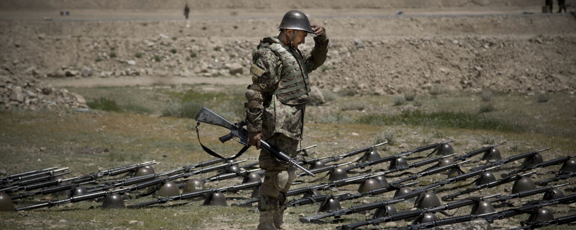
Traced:
<path fill-rule="evenodd" d="M 278 88 L 269 95 L 276 95 L 285 104 L 298 105 L 312 100 L 308 71 L 302 55 L 294 48 L 278 43 L 264 43 L 258 49 L 270 48 L 282 59 L 282 73 Z"/>

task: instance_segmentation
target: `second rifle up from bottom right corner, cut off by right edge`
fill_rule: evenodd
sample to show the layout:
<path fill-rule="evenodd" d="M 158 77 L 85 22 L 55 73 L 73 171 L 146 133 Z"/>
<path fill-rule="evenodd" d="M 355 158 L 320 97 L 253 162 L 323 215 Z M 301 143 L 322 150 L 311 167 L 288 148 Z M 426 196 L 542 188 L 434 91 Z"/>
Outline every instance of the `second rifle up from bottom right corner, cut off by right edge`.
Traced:
<path fill-rule="evenodd" d="M 561 197 L 561 198 L 556 198 L 556 199 L 550 199 L 549 201 L 529 202 L 525 206 L 521 206 L 521 207 L 514 208 L 514 209 L 503 210 L 502 212 L 487 213 L 487 214 L 482 214 L 482 215 L 469 214 L 469 215 L 465 215 L 465 216 L 450 217 L 450 218 L 444 218 L 444 219 L 440 219 L 440 220 L 434 220 L 434 221 L 429 222 L 429 223 L 409 224 L 407 227 L 394 228 L 393 230 L 400 230 L 400 229 L 418 230 L 418 229 L 434 228 L 434 227 L 438 227 L 438 226 L 442 226 L 442 225 L 457 224 L 457 223 L 472 221 L 476 218 L 483 218 L 483 219 L 487 220 L 488 222 L 492 223 L 492 222 L 494 222 L 494 220 L 502 220 L 504 218 L 518 216 L 520 214 L 532 212 L 533 210 L 536 210 L 538 208 L 542 208 L 544 206 L 556 205 L 558 203 L 573 203 L 573 202 L 576 202 L 576 194 L 567 195 L 566 197 Z"/>

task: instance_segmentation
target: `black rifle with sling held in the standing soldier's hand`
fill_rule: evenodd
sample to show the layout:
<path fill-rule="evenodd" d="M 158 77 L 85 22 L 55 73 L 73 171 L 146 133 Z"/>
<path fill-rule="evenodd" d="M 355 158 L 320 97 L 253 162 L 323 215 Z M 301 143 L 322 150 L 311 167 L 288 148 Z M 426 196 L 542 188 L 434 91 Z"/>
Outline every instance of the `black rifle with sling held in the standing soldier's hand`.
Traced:
<path fill-rule="evenodd" d="M 244 129 L 244 126 L 246 125 L 246 122 L 244 120 L 232 123 L 229 122 L 229 120 L 222 118 L 222 116 L 216 114 L 215 112 L 209 110 L 209 108 L 202 107 L 202 109 L 200 109 L 200 111 L 198 112 L 198 115 L 196 115 L 196 122 L 197 122 L 196 134 L 198 134 L 198 142 L 200 143 L 200 146 L 202 146 L 202 149 L 204 149 L 206 153 L 210 154 L 213 157 L 217 157 L 219 159 L 233 160 L 239 157 L 240 155 L 244 154 L 244 152 L 246 152 L 246 150 L 250 148 L 250 145 L 248 145 L 248 130 Z M 238 143 L 244 145 L 244 148 L 242 148 L 240 152 L 236 154 L 236 156 L 233 157 L 220 156 L 218 153 L 215 153 L 213 150 L 207 148 L 202 144 L 202 142 L 200 142 L 200 133 L 198 131 L 198 126 L 200 125 L 200 122 L 229 129 L 230 130 L 229 134 L 219 137 L 218 139 L 222 143 L 229 141 L 230 139 L 234 139 L 234 141 L 237 141 Z M 310 176 L 313 177 L 316 176 L 311 172 L 309 172 L 308 169 L 305 169 L 301 165 L 297 164 L 298 160 L 300 160 L 300 157 L 295 157 L 293 159 L 286 153 L 272 147 L 270 144 L 268 144 L 268 142 L 264 140 L 260 140 L 260 146 L 262 146 L 263 149 L 266 149 L 266 151 L 270 153 L 272 156 L 274 156 L 276 160 L 279 160 L 285 164 L 289 164 L 293 167 L 299 168 L 300 170 L 306 172 L 306 174 Z"/>

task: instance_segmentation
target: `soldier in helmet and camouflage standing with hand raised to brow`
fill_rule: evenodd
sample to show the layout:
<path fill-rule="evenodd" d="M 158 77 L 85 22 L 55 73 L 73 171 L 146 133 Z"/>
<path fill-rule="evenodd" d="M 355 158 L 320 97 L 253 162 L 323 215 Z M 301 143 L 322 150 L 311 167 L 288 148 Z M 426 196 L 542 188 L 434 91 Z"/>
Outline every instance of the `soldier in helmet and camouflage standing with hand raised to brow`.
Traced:
<path fill-rule="evenodd" d="M 310 25 L 298 10 L 287 12 L 278 36 L 265 37 L 257 46 L 250 67 L 252 85 L 245 104 L 248 143 L 260 149 L 260 139 L 296 156 L 302 140 L 305 104 L 312 99 L 308 73 L 326 60 L 328 37 L 319 25 Z M 314 37 L 312 52 L 298 50 L 307 35 Z M 276 160 L 262 149 L 260 168 L 266 171 L 260 187 L 260 223 L 257 229 L 288 229 L 283 225 L 286 192 L 295 178 L 295 168 Z"/>

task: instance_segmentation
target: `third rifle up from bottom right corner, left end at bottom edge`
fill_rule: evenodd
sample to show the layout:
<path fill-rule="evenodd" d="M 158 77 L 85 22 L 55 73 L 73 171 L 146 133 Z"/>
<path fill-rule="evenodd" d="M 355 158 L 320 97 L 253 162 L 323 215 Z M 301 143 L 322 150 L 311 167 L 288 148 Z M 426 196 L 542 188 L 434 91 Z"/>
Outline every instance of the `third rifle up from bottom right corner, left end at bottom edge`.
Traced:
<path fill-rule="evenodd" d="M 509 199 L 523 198 L 523 197 L 529 197 L 531 195 L 545 193 L 546 191 L 552 190 L 552 189 L 557 188 L 557 187 L 566 186 L 566 185 L 567 184 L 560 184 L 559 186 L 554 186 L 554 187 L 533 188 L 531 190 L 526 190 L 526 191 L 521 191 L 519 193 L 505 195 L 503 197 L 499 197 L 500 194 L 490 195 L 490 196 L 482 197 L 482 198 L 469 197 L 469 198 L 462 199 L 460 201 L 455 201 L 452 203 L 446 203 L 445 205 L 442 205 L 439 207 L 434 207 L 434 208 L 429 208 L 429 209 L 408 210 L 408 211 L 400 212 L 400 213 L 396 213 L 396 214 L 388 214 L 387 216 L 380 217 L 380 218 L 374 218 L 373 220 L 367 220 L 367 221 L 361 221 L 358 223 L 342 225 L 342 226 L 339 226 L 338 229 L 339 230 L 351 230 L 351 229 L 356 229 L 356 228 L 359 228 L 359 227 L 362 227 L 365 225 L 370 225 L 370 224 L 380 225 L 380 223 L 403 220 L 406 218 L 414 218 L 414 217 L 418 217 L 424 213 L 444 212 L 446 210 L 453 210 L 453 209 L 461 208 L 464 206 L 473 205 L 474 203 L 476 203 L 478 201 L 484 201 L 484 200 L 486 200 L 488 198 L 492 198 L 492 197 L 496 197 L 496 198 L 489 199 L 488 202 L 490 202 L 490 203 L 504 202 L 504 201 L 507 201 Z"/>

